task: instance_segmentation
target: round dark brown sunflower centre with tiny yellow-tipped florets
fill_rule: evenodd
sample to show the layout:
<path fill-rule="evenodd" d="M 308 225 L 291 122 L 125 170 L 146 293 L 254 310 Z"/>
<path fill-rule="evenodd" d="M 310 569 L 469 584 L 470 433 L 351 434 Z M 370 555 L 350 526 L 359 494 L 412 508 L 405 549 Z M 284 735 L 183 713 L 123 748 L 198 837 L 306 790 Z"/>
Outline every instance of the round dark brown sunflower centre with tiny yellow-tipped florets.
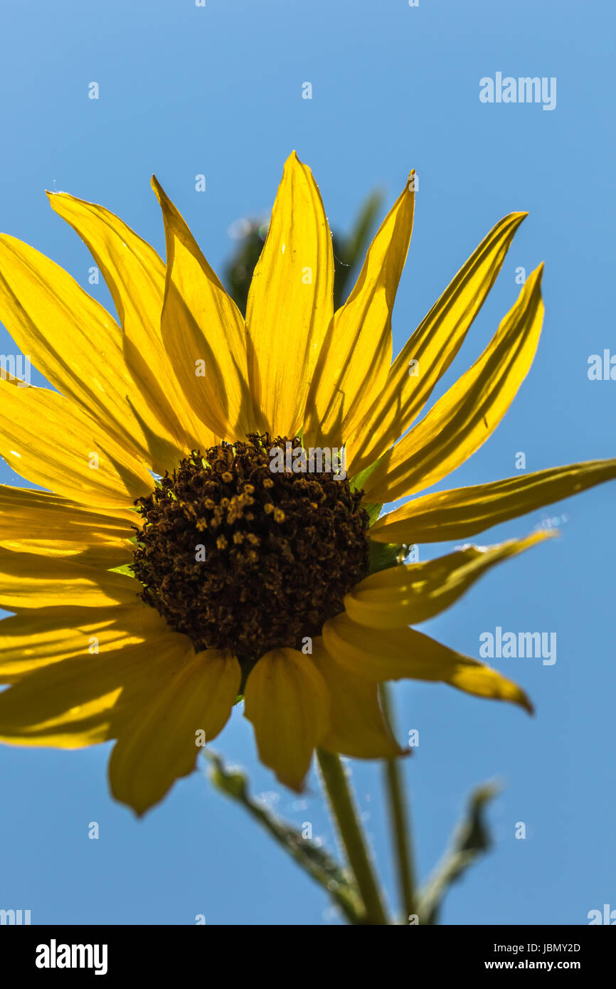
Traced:
<path fill-rule="evenodd" d="M 301 649 L 366 574 L 362 493 L 335 453 L 315 453 L 298 437 L 251 433 L 194 451 L 136 500 L 141 596 L 197 650 L 250 662 Z"/>

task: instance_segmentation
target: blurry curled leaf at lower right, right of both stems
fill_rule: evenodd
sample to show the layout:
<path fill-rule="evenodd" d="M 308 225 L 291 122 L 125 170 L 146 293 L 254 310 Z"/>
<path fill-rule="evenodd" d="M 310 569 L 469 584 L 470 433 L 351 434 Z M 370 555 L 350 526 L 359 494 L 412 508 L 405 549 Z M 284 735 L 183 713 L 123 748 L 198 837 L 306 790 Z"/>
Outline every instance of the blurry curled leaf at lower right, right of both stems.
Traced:
<path fill-rule="evenodd" d="M 437 923 L 449 887 L 458 882 L 469 866 L 491 847 L 484 822 L 484 807 L 498 792 L 499 788 L 493 783 L 484 783 L 471 794 L 467 813 L 454 832 L 450 850 L 419 894 L 417 915 L 420 924 Z"/>

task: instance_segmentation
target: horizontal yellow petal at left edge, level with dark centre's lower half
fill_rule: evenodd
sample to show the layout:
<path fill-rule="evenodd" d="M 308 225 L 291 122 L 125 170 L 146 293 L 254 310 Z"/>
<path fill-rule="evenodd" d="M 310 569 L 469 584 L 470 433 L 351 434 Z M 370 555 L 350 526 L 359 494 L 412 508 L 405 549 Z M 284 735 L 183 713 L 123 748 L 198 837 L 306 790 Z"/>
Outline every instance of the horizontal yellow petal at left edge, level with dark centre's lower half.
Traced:
<path fill-rule="evenodd" d="M 82 567 L 64 558 L 36 553 L 12 553 L 0 549 L 0 607 L 44 608 L 104 607 L 109 604 L 137 604 L 141 584 L 93 567 Z"/>

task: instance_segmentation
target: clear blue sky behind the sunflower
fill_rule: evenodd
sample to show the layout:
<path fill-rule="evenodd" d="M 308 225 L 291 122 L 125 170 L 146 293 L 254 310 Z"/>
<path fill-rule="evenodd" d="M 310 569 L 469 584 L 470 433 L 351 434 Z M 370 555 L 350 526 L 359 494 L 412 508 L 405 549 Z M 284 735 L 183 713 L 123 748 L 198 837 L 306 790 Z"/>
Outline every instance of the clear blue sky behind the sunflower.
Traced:
<path fill-rule="evenodd" d="M 616 353 L 613 31 L 606 0 L 5 0 L 0 228 L 87 287 L 89 255 L 44 189 L 105 204 L 163 252 L 155 172 L 220 271 L 228 226 L 267 216 L 293 148 L 340 230 L 371 189 L 392 201 L 415 167 L 396 349 L 504 214 L 530 216 L 447 382 L 512 305 L 516 267 L 546 262 L 533 370 L 489 442 L 442 487 L 515 474 L 518 451 L 528 470 L 613 456 L 616 382 L 586 375 L 590 354 Z M 556 76 L 556 110 L 481 103 L 479 81 L 497 71 Z M 98 101 L 88 99 L 92 81 Z M 198 173 L 205 193 L 195 191 Z M 102 284 L 92 291 L 109 304 Z M 4 330 L 0 344 L 12 352 Z M 0 481 L 19 483 L 4 464 Z M 530 692 L 534 719 L 446 686 L 396 687 L 399 734 L 420 737 L 404 772 L 422 875 L 470 788 L 494 777 L 504 786 L 489 814 L 495 847 L 451 892 L 445 924 L 584 924 L 589 910 L 616 907 L 615 494 L 607 485 L 481 537 L 567 516 L 560 541 L 491 572 L 424 626 L 476 656 L 481 633 L 497 625 L 556 632 L 554 666 L 493 661 Z M 40 924 L 192 924 L 196 914 L 209 924 L 336 922 L 320 889 L 203 771 L 135 821 L 108 795 L 108 748 L 0 749 L 0 907 L 31 909 Z M 333 845 L 314 777 L 302 809 L 257 764 L 238 711 L 217 748 L 246 767 L 256 792 L 275 791 L 291 820 L 310 821 Z M 381 769 L 351 767 L 392 893 Z M 88 840 L 90 821 L 99 841 Z M 518 821 L 525 841 L 514 838 Z"/>

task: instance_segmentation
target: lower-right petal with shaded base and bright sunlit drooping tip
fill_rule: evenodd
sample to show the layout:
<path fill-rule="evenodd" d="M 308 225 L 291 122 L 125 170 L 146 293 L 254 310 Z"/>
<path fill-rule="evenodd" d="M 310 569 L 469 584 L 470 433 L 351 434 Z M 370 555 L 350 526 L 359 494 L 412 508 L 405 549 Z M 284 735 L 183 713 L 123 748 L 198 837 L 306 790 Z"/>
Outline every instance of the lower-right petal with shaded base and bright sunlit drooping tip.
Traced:
<path fill-rule="evenodd" d="M 532 712 L 528 697 L 512 680 L 413 628 L 383 632 L 341 614 L 325 623 L 323 640 L 336 661 L 358 676 L 379 682 L 440 680 L 477 697 L 512 701 Z"/>

